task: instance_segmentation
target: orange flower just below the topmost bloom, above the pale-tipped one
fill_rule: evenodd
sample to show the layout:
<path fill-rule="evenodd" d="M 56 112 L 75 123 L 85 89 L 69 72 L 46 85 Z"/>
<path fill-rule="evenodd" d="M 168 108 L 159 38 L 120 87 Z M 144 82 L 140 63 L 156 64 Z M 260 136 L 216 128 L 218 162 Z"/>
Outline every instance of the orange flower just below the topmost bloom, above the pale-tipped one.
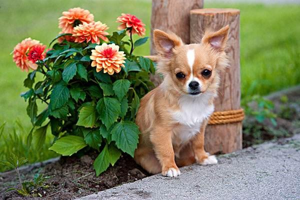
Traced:
<path fill-rule="evenodd" d="M 73 29 L 73 35 L 75 37 L 75 42 L 86 42 L 91 41 L 91 43 L 100 43 L 100 39 L 104 41 L 108 41 L 108 38 L 105 35 L 108 35 L 108 32 L 105 32 L 108 27 L 105 23 L 101 23 L 100 21 L 90 22 L 79 24 Z"/>

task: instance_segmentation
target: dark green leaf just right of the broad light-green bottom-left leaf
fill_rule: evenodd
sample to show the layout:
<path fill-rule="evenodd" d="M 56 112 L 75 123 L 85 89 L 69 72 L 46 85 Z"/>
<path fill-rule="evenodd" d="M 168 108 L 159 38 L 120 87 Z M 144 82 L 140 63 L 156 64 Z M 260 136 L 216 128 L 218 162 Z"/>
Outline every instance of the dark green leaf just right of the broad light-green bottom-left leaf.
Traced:
<path fill-rule="evenodd" d="M 92 148 L 99 150 L 102 137 L 99 129 L 84 128 L 83 130 L 84 141 Z"/>

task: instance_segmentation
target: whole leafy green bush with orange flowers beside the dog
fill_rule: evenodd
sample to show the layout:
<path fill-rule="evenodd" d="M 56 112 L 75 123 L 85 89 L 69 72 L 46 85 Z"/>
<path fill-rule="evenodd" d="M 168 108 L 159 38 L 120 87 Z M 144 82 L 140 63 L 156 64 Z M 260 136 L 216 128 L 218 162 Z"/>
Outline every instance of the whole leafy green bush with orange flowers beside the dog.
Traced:
<path fill-rule="evenodd" d="M 139 130 L 134 123 L 139 98 L 154 87 L 149 80 L 153 62 L 135 56 L 132 34 L 143 35 L 144 24 L 131 14 L 117 17 L 119 31 L 108 35 L 106 24 L 93 21 L 93 15 L 82 8 L 72 8 L 59 18 L 58 34 L 49 47 L 26 38 L 13 50 L 13 60 L 28 73 L 21 93 L 28 101 L 27 113 L 33 128 L 28 142 L 35 138 L 42 145 L 47 128 L 55 135 L 49 148 L 61 155 L 95 149 L 96 174 L 113 165 L 121 152 L 133 156 Z M 129 41 L 124 40 L 128 34 Z M 129 50 L 127 50 L 127 48 Z M 35 81 L 37 73 L 43 78 Z M 39 111 L 37 101 L 46 104 Z"/>

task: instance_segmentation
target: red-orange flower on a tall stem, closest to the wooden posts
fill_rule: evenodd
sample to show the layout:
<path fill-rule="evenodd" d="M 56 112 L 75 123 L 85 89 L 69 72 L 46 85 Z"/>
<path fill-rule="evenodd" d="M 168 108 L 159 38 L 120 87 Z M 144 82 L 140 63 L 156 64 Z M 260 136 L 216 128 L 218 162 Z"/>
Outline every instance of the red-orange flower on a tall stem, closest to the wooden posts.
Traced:
<path fill-rule="evenodd" d="M 145 34 L 145 27 L 141 20 L 132 14 L 124 14 L 116 18 L 116 22 L 120 22 L 121 24 L 117 27 L 119 30 L 125 28 L 131 28 L 132 34 L 138 34 L 142 36 Z M 129 33 L 129 30 L 127 31 Z"/>

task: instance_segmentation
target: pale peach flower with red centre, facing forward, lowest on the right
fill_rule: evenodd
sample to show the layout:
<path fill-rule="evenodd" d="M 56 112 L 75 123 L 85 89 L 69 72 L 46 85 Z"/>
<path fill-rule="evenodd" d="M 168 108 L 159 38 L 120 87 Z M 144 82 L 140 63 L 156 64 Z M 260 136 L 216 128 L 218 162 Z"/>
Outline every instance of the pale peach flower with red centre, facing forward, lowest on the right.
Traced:
<path fill-rule="evenodd" d="M 121 66 L 124 67 L 125 54 L 124 51 L 118 51 L 119 46 L 112 44 L 102 43 L 102 45 L 96 45 L 95 49 L 91 50 L 92 60 L 91 66 L 96 67 L 96 71 L 99 72 L 103 68 L 104 73 L 112 75 L 114 72 L 118 73 L 121 70 Z"/>

